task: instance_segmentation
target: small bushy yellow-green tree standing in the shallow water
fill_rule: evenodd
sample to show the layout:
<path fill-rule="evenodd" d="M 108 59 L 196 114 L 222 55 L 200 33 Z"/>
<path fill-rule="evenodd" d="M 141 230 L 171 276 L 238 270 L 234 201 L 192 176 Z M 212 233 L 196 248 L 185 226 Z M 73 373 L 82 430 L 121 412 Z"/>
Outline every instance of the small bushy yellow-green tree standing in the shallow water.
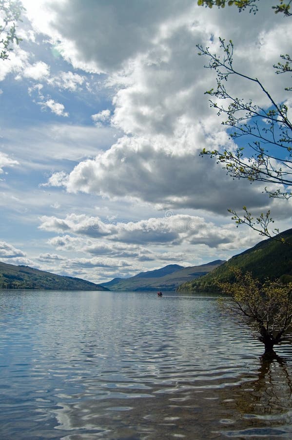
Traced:
<path fill-rule="evenodd" d="M 261 284 L 250 272 L 242 274 L 235 267 L 232 271 L 234 282 L 218 283 L 224 294 L 231 295 L 225 307 L 255 330 L 265 352 L 272 352 L 292 330 L 292 283 L 268 280 Z"/>

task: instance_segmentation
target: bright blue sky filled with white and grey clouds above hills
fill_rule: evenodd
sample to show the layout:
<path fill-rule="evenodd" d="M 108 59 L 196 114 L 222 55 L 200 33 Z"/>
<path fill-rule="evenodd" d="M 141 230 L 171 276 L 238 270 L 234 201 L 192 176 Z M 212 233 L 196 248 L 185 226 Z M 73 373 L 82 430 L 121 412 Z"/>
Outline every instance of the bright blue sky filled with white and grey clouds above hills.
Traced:
<path fill-rule="evenodd" d="M 235 146 L 196 44 L 219 53 L 231 39 L 236 69 L 291 108 L 273 69 L 291 22 L 274 3 L 253 15 L 191 0 L 23 0 L 22 42 L 0 60 L 0 260 L 102 283 L 263 240 L 228 208 L 271 209 L 290 228 L 291 200 L 200 156 Z M 229 88 L 268 105 L 248 81 Z"/>

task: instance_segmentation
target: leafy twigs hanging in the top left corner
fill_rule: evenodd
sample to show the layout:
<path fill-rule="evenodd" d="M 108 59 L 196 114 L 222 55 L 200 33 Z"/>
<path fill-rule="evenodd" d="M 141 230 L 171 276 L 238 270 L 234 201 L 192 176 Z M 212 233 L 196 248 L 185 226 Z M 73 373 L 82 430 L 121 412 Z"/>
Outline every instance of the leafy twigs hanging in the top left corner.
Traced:
<path fill-rule="evenodd" d="M 17 22 L 24 7 L 19 0 L 0 0 L 0 59 L 9 59 L 13 44 L 19 44 L 21 38 L 16 34 Z"/>

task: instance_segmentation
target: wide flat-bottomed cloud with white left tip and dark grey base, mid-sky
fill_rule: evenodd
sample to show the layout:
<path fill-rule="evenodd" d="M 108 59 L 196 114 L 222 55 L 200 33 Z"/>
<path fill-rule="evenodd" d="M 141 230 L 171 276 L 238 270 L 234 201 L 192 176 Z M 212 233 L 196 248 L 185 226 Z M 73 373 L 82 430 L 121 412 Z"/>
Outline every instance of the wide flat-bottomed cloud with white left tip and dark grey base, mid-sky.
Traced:
<path fill-rule="evenodd" d="M 150 140 L 124 137 L 96 159 L 80 162 L 68 176 L 53 174 L 48 184 L 57 180 L 58 186 L 73 193 L 133 197 L 162 208 L 204 209 L 223 215 L 230 207 L 269 202 L 262 195 L 263 185 L 232 181 L 214 160 L 201 158 L 195 145 L 193 152 L 185 152 L 182 144 L 183 140 L 177 140 L 173 145 L 177 151 L 171 151 L 172 144 L 165 139 L 157 138 L 151 144 Z"/>

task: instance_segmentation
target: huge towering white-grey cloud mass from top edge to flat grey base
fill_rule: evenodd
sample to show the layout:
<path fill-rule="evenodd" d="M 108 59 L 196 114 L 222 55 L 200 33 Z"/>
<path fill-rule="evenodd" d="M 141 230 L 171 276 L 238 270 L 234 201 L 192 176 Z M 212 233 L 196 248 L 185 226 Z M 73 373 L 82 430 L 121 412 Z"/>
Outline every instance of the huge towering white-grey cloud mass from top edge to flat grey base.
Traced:
<path fill-rule="evenodd" d="M 269 47 L 273 48 L 274 36 L 278 51 L 291 43 L 290 34 L 288 38 L 280 38 L 281 31 L 287 27 L 285 21 L 266 8 L 255 17 L 241 14 L 238 27 L 234 21 L 236 8 L 207 11 L 191 1 L 179 4 L 171 1 L 167 7 L 156 2 L 150 7 L 147 0 L 135 2 L 135 6 L 133 3 L 131 14 L 127 9 L 126 15 L 122 5 L 115 3 L 112 8 L 111 1 L 80 9 L 80 1 L 75 0 L 63 21 L 66 4 L 65 1 L 52 6 L 55 14 L 52 26 L 64 41 L 74 46 L 79 61 L 94 62 L 101 70 L 110 72 L 107 84 L 115 93 L 111 123 L 127 135 L 95 159 L 80 162 L 63 179 L 56 176 L 58 186 L 74 193 L 132 197 L 156 206 L 203 209 L 216 214 L 226 214 L 230 207 L 273 204 L 262 197 L 263 186 L 231 181 L 215 161 L 199 157 L 203 148 L 223 145 L 232 149 L 234 145 L 204 96 L 215 79 L 213 72 L 204 70 L 205 60 L 198 57 L 195 44 L 209 45 L 216 52 L 220 35 L 234 39 L 236 66 L 244 71 L 250 68 L 255 76 L 264 71 L 268 86 L 281 99 L 283 84 L 279 75 L 274 75 L 276 54 Z M 91 25 L 93 16 L 100 27 Z M 88 25 L 78 39 L 76 17 L 77 26 Z M 107 38 L 98 39 L 96 33 L 99 35 L 104 23 L 107 26 L 118 23 L 118 26 L 109 26 L 104 30 Z M 136 29 L 139 36 L 133 38 Z M 131 39 L 126 38 L 128 32 Z M 118 54 L 117 38 L 123 42 Z M 256 63 L 255 57 L 261 62 Z M 238 86 L 231 79 L 230 87 L 236 93 L 240 88 L 246 99 L 253 96 L 260 103 L 267 102 L 265 94 L 261 97 L 261 89 L 254 89 L 252 83 Z M 102 110 L 92 115 L 92 119 L 101 124 L 109 116 L 109 110 Z M 53 175 L 48 185 L 54 185 L 54 180 Z"/>

